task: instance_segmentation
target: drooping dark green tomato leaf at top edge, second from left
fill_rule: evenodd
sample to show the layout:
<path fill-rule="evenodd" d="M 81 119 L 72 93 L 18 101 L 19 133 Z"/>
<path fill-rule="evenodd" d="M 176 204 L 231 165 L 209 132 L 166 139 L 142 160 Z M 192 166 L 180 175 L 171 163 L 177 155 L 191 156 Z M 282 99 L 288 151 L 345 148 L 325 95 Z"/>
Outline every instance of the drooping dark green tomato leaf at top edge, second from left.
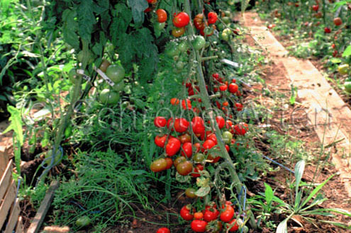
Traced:
<path fill-rule="evenodd" d="M 82 40 L 91 41 L 91 33 L 93 33 L 96 19 L 94 16 L 94 2 L 92 0 L 81 1 L 77 8 L 78 15 L 78 33 Z"/>

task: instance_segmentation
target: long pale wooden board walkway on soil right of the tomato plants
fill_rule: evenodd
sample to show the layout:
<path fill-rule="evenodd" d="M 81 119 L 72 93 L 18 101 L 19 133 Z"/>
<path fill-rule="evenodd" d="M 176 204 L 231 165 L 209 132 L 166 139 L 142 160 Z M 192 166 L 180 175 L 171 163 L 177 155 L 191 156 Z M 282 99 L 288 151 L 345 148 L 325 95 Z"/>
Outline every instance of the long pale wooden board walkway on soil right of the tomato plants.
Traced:
<path fill-rule="evenodd" d="M 332 154 L 335 168 L 340 171 L 340 179 L 351 197 L 351 110 L 338 93 L 328 84 L 325 77 L 308 60 L 288 57 L 288 51 L 264 26 L 247 25 L 255 13 L 245 13 L 244 24 L 250 29 L 252 38 L 269 52 L 276 64 L 286 69 L 291 84 L 297 87 L 297 95 L 303 106 L 308 106 L 306 115 L 316 134 L 324 145 L 336 144 L 338 152 Z"/>

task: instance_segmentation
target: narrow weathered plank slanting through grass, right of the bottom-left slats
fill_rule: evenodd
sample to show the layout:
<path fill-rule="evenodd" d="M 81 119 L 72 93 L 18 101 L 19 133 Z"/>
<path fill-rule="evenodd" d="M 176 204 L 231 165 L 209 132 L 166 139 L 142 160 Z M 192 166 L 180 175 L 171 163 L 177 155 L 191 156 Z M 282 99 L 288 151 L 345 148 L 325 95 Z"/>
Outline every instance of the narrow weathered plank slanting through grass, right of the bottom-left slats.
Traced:
<path fill-rule="evenodd" d="M 48 193 L 46 193 L 44 200 L 40 203 L 40 208 L 35 215 L 32 223 L 27 229 L 26 233 L 37 233 L 40 229 L 40 225 L 43 223 L 46 213 L 48 212 L 52 199 L 54 198 L 54 194 L 56 189 L 59 186 L 58 181 L 52 181 L 50 184 L 50 188 Z"/>

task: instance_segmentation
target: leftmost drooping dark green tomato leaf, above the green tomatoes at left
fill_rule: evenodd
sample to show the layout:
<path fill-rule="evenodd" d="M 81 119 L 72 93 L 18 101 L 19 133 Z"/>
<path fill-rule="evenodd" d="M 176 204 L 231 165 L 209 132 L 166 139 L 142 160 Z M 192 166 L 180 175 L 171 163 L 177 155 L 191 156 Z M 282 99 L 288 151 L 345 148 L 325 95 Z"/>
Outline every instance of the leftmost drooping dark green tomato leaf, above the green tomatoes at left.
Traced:
<path fill-rule="evenodd" d="M 78 23 L 74 20 L 76 16 L 76 11 L 65 10 L 62 14 L 62 20 L 64 21 L 62 30 L 65 42 L 71 45 L 74 50 L 79 50 Z"/>

